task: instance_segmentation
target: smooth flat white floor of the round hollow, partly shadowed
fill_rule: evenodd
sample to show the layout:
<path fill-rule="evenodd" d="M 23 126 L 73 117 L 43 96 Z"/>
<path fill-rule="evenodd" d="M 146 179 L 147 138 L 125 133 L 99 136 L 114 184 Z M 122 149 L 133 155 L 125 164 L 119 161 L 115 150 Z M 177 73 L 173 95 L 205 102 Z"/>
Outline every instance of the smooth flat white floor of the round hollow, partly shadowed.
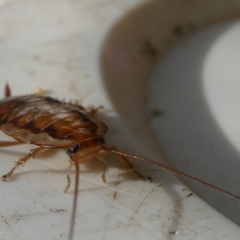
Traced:
<path fill-rule="evenodd" d="M 236 194 L 240 193 L 239 36 L 239 20 L 195 34 L 156 65 L 148 90 L 153 133 L 169 162 Z M 238 200 L 190 180 L 185 183 L 240 224 Z"/>

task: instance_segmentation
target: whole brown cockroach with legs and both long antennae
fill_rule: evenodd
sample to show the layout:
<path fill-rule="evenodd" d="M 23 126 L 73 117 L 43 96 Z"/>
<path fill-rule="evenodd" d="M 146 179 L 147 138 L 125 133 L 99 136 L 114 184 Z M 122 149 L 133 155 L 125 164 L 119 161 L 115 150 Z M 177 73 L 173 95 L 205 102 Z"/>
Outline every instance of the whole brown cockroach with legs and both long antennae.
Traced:
<path fill-rule="evenodd" d="M 115 147 L 106 146 L 104 135 L 107 126 L 97 118 L 98 109 L 86 110 L 78 104 L 65 103 L 43 95 L 24 95 L 11 97 L 8 86 L 5 89 L 5 99 L 0 102 L 0 130 L 13 137 L 16 141 L 0 141 L 0 147 L 19 144 L 34 144 L 38 146 L 21 157 L 13 168 L 2 176 L 6 181 L 20 165 L 23 165 L 31 157 L 44 149 L 66 149 L 71 164 L 75 165 L 75 191 L 71 215 L 69 240 L 73 239 L 74 221 L 77 208 L 77 191 L 79 184 L 79 164 L 92 158 L 103 157 L 110 153 L 115 154 L 123 165 L 132 170 L 140 178 L 146 179 L 126 159 L 127 157 L 138 159 L 149 164 L 161 167 L 169 172 L 190 178 L 207 185 L 232 197 L 240 199 L 240 196 L 216 187 L 203 180 L 195 178 L 177 169 L 163 165 L 143 157 L 118 151 Z M 105 167 L 106 168 L 106 167 Z M 102 173 L 105 180 L 105 170 Z M 70 187 L 70 177 L 67 175 Z"/>

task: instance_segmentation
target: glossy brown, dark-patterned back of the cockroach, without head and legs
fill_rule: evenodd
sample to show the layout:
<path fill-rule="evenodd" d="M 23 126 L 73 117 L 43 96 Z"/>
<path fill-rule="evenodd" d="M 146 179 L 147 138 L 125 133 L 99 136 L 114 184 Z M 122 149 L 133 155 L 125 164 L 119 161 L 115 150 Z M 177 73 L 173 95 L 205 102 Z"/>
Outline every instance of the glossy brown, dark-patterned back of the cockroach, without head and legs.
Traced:
<path fill-rule="evenodd" d="M 0 102 L 0 130 L 21 142 L 62 148 L 102 137 L 107 127 L 81 106 L 25 95 Z"/>

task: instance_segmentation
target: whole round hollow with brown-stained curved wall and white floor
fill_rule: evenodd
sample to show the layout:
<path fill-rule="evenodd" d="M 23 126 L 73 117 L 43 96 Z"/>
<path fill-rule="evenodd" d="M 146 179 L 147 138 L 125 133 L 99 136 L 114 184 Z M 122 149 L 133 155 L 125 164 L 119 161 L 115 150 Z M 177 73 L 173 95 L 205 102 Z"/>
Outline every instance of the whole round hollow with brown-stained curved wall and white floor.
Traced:
<path fill-rule="evenodd" d="M 105 41 L 102 72 L 117 111 L 154 159 L 240 194 L 240 28 L 228 20 L 240 6 L 215 3 L 157 2 L 127 15 Z M 238 200 L 182 180 L 240 224 Z"/>

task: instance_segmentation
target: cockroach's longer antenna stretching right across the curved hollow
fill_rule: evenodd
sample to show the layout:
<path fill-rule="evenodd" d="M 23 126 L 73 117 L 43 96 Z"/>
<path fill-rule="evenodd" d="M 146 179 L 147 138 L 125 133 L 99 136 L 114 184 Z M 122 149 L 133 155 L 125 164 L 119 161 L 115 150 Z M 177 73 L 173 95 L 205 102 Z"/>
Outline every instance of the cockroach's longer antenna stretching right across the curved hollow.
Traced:
<path fill-rule="evenodd" d="M 175 173 L 175 174 L 184 176 L 184 177 L 186 177 L 186 178 L 192 179 L 192 180 L 194 180 L 194 181 L 196 181 L 196 182 L 202 183 L 202 184 L 204 184 L 204 185 L 206 185 L 206 186 L 208 186 L 208 187 L 211 187 L 211 188 L 213 188 L 213 189 L 216 189 L 216 190 L 218 190 L 218 191 L 220 191 L 220 192 L 223 192 L 223 193 L 225 193 L 225 194 L 227 194 L 227 195 L 230 195 L 230 196 L 232 196 L 232 197 L 234 197 L 234 198 L 240 199 L 240 196 L 238 196 L 238 195 L 235 194 L 235 193 L 232 193 L 232 192 L 229 192 L 229 191 L 227 191 L 227 190 L 225 190 L 225 189 L 219 188 L 219 187 L 217 187 L 217 186 L 215 186 L 215 185 L 213 185 L 213 184 L 211 184 L 211 183 L 205 182 L 205 181 L 203 181 L 203 180 L 201 180 L 201 179 L 199 179 L 199 178 L 193 177 L 192 175 L 189 175 L 189 174 L 187 174 L 187 173 L 181 172 L 181 171 L 179 171 L 179 170 L 177 170 L 177 169 L 175 169 L 175 168 L 169 167 L 169 166 L 167 166 L 167 165 L 165 165 L 165 164 L 162 164 L 162 163 L 159 163 L 159 162 L 155 162 L 155 161 L 152 161 L 152 160 L 147 159 L 147 158 L 144 158 L 144 157 L 139 157 L 139 156 L 136 156 L 136 155 L 133 155 L 133 154 L 130 154 L 130 153 L 120 152 L 120 151 L 118 151 L 118 150 L 116 150 L 116 149 L 114 149 L 114 148 L 109 148 L 109 149 L 110 149 L 110 151 L 111 151 L 112 153 L 115 153 L 115 154 L 117 154 L 117 155 L 121 155 L 121 156 L 124 156 L 124 157 L 129 157 L 129 158 L 134 158 L 134 159 L 138 159 L 138 160 L 141 160 L 141 161 L 143 161 L 143 162 L 146 162 L 146 163 L 150 163 L 150 164 L 155 165 L 155 166 L 158 166 L 158 167 L 160 167 L 160 168 L 162 168 L 162 169 L 164 169 L 164 170 L 167 170 L 167 171 L 169 171 L 169 172 L 172 172 L 172 173 Z"/>

